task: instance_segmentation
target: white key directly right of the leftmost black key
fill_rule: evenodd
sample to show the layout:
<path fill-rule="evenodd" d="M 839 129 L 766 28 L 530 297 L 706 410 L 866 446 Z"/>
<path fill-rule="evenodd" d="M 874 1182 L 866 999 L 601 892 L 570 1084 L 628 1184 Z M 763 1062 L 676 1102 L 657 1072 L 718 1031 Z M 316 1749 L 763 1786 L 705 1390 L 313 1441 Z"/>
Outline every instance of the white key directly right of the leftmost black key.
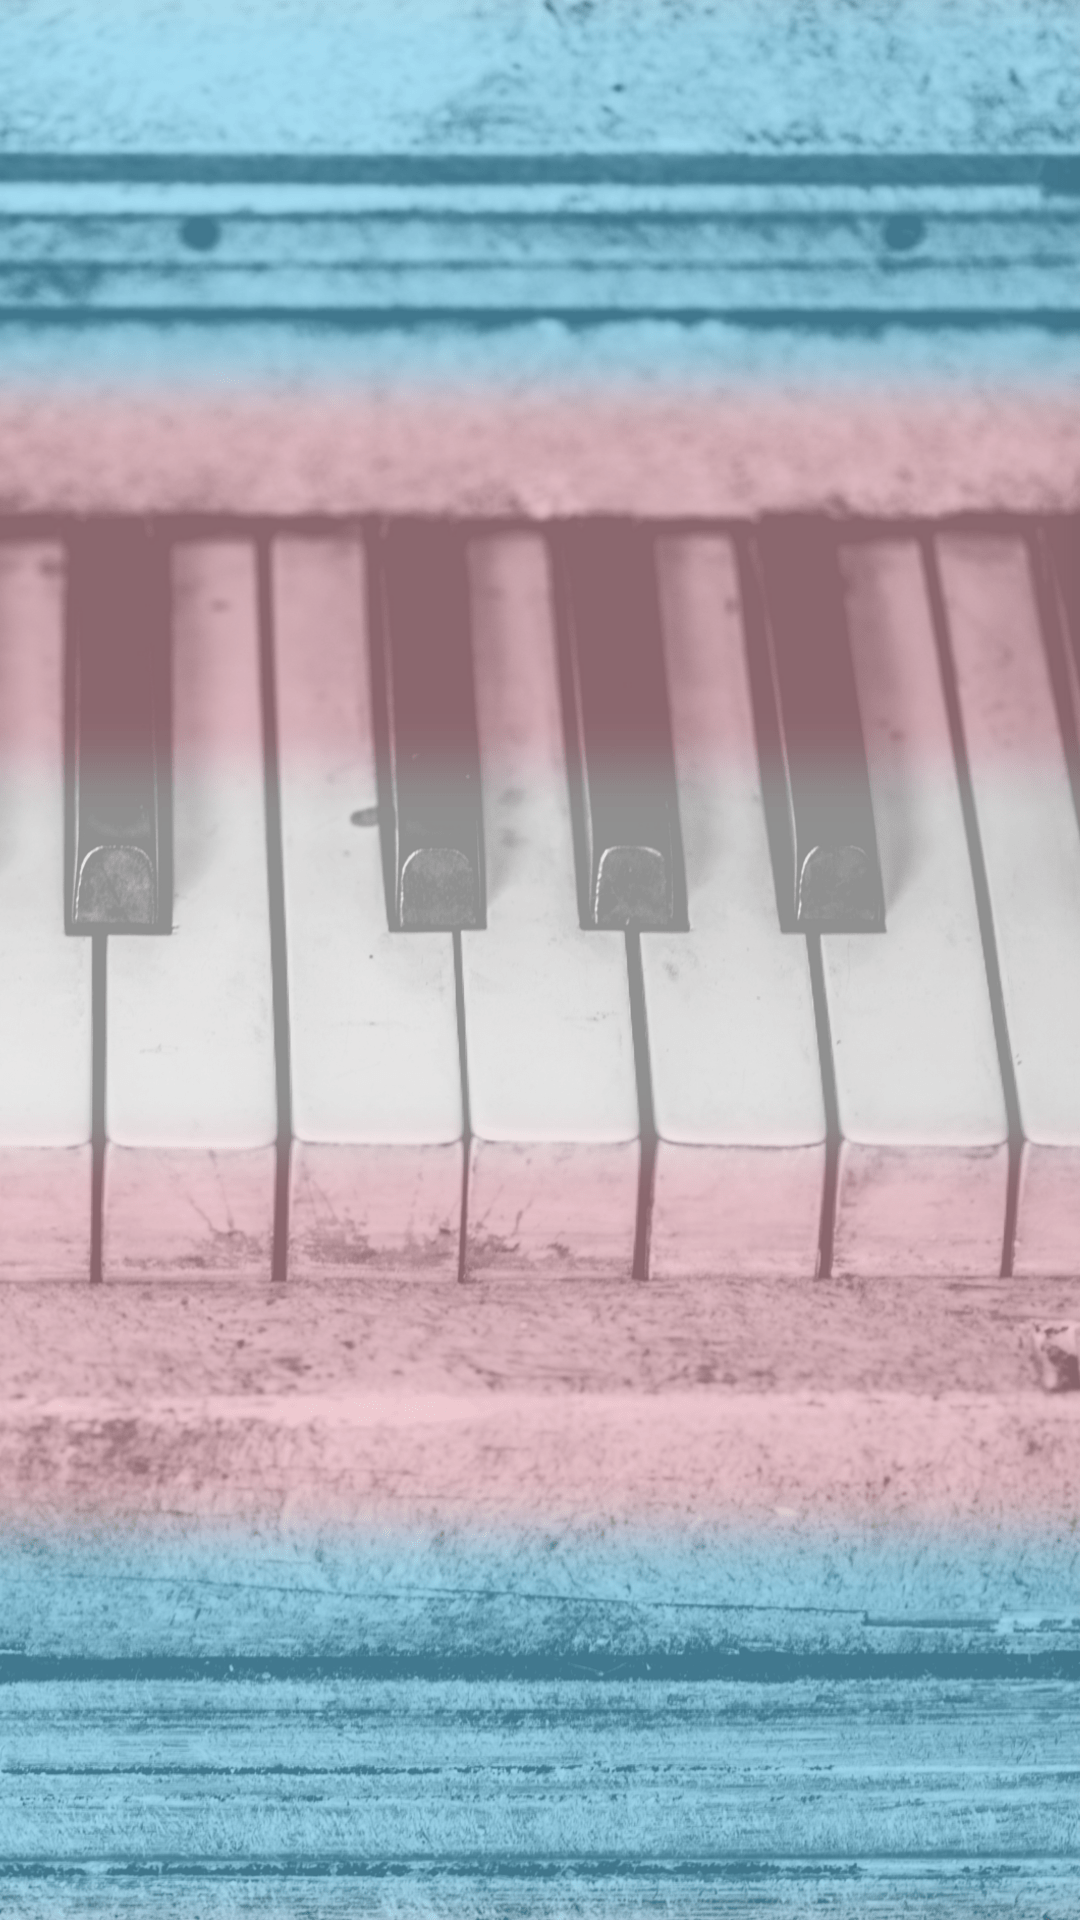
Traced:
<path fill-rule="evenodd" d="M 267 1277 L 275 1039 L 256 555 L 173 555 L 173 933 L 108 948 L 104 1273 Z"/>

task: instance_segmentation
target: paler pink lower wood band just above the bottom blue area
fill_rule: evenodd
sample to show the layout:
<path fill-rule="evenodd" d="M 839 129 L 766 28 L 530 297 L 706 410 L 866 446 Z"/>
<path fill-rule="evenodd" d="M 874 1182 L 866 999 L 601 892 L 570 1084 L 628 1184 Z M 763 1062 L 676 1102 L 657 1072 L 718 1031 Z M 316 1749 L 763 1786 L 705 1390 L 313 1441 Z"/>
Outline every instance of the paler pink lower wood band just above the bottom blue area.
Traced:
<path fill-rule="evenodd" d="M 686 1524 L 692 1517 L 813 1513 L 1049 1526 L 1080 1500 L 1074 1396 L 790 1394 L 596 1400 L 492 1396 L 296 1400 L 252 1409 L 198 1398 L 158 1409 L 54 1404 L 0 1430 L 13 1517 L 65 1524 L 94 1511 L 246 1524 L 396 1517 L 434 1524 Z"/>

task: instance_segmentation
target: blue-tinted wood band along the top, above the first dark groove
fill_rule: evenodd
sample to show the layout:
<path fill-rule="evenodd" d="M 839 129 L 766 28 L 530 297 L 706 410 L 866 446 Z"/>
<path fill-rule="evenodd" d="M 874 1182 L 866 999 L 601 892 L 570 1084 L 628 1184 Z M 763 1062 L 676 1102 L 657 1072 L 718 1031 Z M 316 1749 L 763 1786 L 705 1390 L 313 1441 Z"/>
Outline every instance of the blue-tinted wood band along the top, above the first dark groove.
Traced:
<path fill-rule="evenodd" d="M 1067 148 L 1070 0 L 21 0 L 8 152 Z"/>

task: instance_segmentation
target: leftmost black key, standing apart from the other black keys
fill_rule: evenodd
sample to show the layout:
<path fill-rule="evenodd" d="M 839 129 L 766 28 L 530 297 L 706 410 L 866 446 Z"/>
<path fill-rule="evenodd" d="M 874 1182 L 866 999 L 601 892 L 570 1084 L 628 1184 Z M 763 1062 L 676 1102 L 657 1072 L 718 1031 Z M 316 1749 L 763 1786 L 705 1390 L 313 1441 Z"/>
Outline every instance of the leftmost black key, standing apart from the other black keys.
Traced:
<path fill-rule="evenodd" d="M 169 551 L 136 522 L 67 547 L 69 933 L 171 929 Z"/>

